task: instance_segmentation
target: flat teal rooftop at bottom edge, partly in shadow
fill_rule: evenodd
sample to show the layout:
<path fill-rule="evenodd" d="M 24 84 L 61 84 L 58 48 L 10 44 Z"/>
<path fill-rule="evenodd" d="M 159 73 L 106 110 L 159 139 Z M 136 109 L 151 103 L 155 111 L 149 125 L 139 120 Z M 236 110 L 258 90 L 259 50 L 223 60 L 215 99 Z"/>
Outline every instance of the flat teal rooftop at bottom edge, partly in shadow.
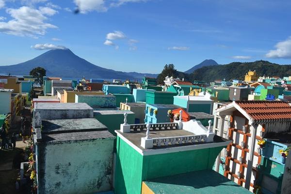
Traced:
<path fill-rule="evenodd" d="M 155 194 L 251 194 L 213 170 L 194 171 L 144 181 Z"/>

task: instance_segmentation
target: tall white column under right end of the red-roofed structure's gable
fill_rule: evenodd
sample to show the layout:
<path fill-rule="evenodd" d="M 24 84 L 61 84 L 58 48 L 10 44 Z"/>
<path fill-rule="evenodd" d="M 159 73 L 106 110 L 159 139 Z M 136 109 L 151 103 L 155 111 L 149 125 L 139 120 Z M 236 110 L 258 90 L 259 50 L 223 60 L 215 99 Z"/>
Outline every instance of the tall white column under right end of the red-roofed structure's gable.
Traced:
<path fill-rule="evenodd" d="M 251 132 L 251 146 L 249 148 L 249 155 L 248 155 L 248 162 L 247 162 L 247 169 L 246 169 L 246 176 L 245 176 L 245 185 L 244 188 L 248 189 L 250 188 L 251 183 L 251 176 L 253 171 L 253 161 L 254 161 L 254 153 L 255 153 L 255 146 L 256 146 L 256 136 L 257 136 L 257 128 L 258 125 L 250 124 L 250 132 Z"/>

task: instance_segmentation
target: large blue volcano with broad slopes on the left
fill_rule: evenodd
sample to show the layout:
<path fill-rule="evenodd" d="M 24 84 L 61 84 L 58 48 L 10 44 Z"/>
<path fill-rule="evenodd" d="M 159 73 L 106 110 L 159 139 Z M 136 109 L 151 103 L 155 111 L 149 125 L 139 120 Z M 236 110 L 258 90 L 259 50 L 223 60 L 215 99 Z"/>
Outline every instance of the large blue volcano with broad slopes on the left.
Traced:
<path fill-rule="evenodd" d="M 70 49 L 49 50 L 32 60 L 17 65 L 0 66 L 1 74 L 29 75 L 34 67 L 41 66 L 48 76 L 65 78 L 102 78 L 102 79 L 141 79 L 145 75 L 157 77 L 157 74 L 122 72 L 106 69 L 75 55 Z"/>

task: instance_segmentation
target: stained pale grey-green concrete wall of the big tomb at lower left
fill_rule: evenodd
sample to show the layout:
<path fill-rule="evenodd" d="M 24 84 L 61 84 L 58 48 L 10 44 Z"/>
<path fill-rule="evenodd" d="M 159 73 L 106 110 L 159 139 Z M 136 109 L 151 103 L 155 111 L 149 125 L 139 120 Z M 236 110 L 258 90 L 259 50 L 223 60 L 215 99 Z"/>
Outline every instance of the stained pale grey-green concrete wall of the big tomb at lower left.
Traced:
<path fill-rule="evenodd" d="M 69 135 L 69 134 L 68 134 Z M 39 194 L 88 194 L 112 188 L 113 139 L 39 146 Z"/>

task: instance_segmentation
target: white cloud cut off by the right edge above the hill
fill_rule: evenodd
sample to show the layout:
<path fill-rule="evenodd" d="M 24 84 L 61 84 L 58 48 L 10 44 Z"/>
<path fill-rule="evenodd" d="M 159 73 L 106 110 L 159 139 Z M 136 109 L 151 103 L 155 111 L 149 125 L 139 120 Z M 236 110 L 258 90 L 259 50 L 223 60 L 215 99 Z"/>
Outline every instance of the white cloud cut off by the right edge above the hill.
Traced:
<path fill-rule="evenodd" d="M 275 45 L 275 50 L 270 50 L 266 57 L 268 58 L 291 58 L 291 36 Z"/>

